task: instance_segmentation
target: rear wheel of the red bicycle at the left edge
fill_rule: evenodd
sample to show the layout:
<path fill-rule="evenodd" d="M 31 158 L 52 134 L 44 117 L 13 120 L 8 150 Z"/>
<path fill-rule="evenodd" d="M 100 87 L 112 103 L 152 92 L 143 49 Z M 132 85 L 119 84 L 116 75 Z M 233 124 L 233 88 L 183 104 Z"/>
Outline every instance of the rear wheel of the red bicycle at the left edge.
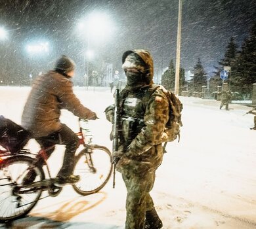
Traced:
<path fill-rule="evenodd" d="M 29 167 L 36 173 L 35 181 L 45 179 L 41 167 L 35 167 L 33 158 L 12 156 L 0 164 L 0 222 L 18 219 L 28 214 L 39 200 L 41 188 L 22 185 Z"/>

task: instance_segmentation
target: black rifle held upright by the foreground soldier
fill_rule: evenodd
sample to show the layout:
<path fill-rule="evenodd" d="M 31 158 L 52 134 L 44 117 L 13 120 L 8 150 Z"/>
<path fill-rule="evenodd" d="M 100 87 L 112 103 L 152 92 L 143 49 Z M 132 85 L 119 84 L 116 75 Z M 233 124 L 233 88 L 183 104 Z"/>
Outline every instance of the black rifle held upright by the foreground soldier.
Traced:
<path fill-rule="evenodd" d="M 120 109 L 119 109 L 119 85 L 116 87 L 115 91 L 115 109 L 114 109 L 114 124 L 113 124 L 113 145 L 112 145 L 112 152 L 118 150 L 118 141 L 119 141 L 119 124 L 120 124 Z M 113 171 L 113 188 L 115 188 L 116 184 L 116 164 L 119 161 L 119 158 L 114 157 L 112 159 L 112 164 L 114 164 L 114 171 Z"/>

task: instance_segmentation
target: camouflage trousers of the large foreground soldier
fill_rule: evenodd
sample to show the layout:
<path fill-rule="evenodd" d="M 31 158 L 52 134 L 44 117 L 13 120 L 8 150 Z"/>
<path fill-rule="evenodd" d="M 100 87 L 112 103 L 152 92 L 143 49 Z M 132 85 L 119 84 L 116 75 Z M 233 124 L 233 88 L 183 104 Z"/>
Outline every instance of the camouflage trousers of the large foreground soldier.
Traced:
<path fill-rule="evenodd" d="M 154 202 L 149 194 L 154 186 L 155 171 L 141 175 L 122 173 L 127 188 L 125 229 L 142 229 L 146 211 L 154 209 Z"/>

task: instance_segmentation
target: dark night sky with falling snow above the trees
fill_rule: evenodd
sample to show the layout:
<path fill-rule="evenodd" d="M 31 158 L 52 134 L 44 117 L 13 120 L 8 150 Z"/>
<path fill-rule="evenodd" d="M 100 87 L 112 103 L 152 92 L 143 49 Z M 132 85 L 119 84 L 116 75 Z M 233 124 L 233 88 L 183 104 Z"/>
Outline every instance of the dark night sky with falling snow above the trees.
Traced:
<path fill-rule="evenodd" d="M 79 79 L 88 35 L 78 31 L 77 24 L 92 12 L 107 14 L 112 21 L 108 35 L 90 37 L 96 59 L 121 71 L 125 50 L 146 48 L 154 58 L 155 74 L 160 74 L 175 60 L 178 4 L 179 0 L 0 0 L 0 27 L 8 31 L 8 38 L 0 41 L 0 78 L 46 71 L 66 54 L 77 63 Z M 255 1 L 183 0 L 181 67 L 192 70 L 200 58 L 205 72 L 212 75 L 230 37 L 240 46 L 255 18 Z M 25 46 L 39 40 L 49 42 L 49 54 L 28 55 Z"/>

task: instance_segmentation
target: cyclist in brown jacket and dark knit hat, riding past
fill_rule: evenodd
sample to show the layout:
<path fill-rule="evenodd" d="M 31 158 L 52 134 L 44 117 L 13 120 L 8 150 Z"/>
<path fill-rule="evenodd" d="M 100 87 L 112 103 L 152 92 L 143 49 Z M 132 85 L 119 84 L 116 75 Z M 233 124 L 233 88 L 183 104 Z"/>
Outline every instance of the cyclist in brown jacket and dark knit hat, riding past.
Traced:
<path fill-rule="evenodd" d="M 60 110 L 68 109 L 79 118 L 97 118 L 96 113 L 84 107 L 73 92 L 74 71 L 73 60 L 68 56 L 58 58 L 54 70 L 39 75 L 34 80 L 22 113 L 22 126 L 30 132 L 42 149 L 47 149 L 46 159 L 56 144 L 66 146 L 64 161 L 56 177 L 56 183 L 60 185 L 79 181 L 79 176 L 72 174 L 79 139 L 68 126 L 60 122 Z M 43 159 L 37 163 L 43 166 Z M 35 172 L 30 171 L 24 179 L 24 184 L 32 183 L 35 177 Z"/>

